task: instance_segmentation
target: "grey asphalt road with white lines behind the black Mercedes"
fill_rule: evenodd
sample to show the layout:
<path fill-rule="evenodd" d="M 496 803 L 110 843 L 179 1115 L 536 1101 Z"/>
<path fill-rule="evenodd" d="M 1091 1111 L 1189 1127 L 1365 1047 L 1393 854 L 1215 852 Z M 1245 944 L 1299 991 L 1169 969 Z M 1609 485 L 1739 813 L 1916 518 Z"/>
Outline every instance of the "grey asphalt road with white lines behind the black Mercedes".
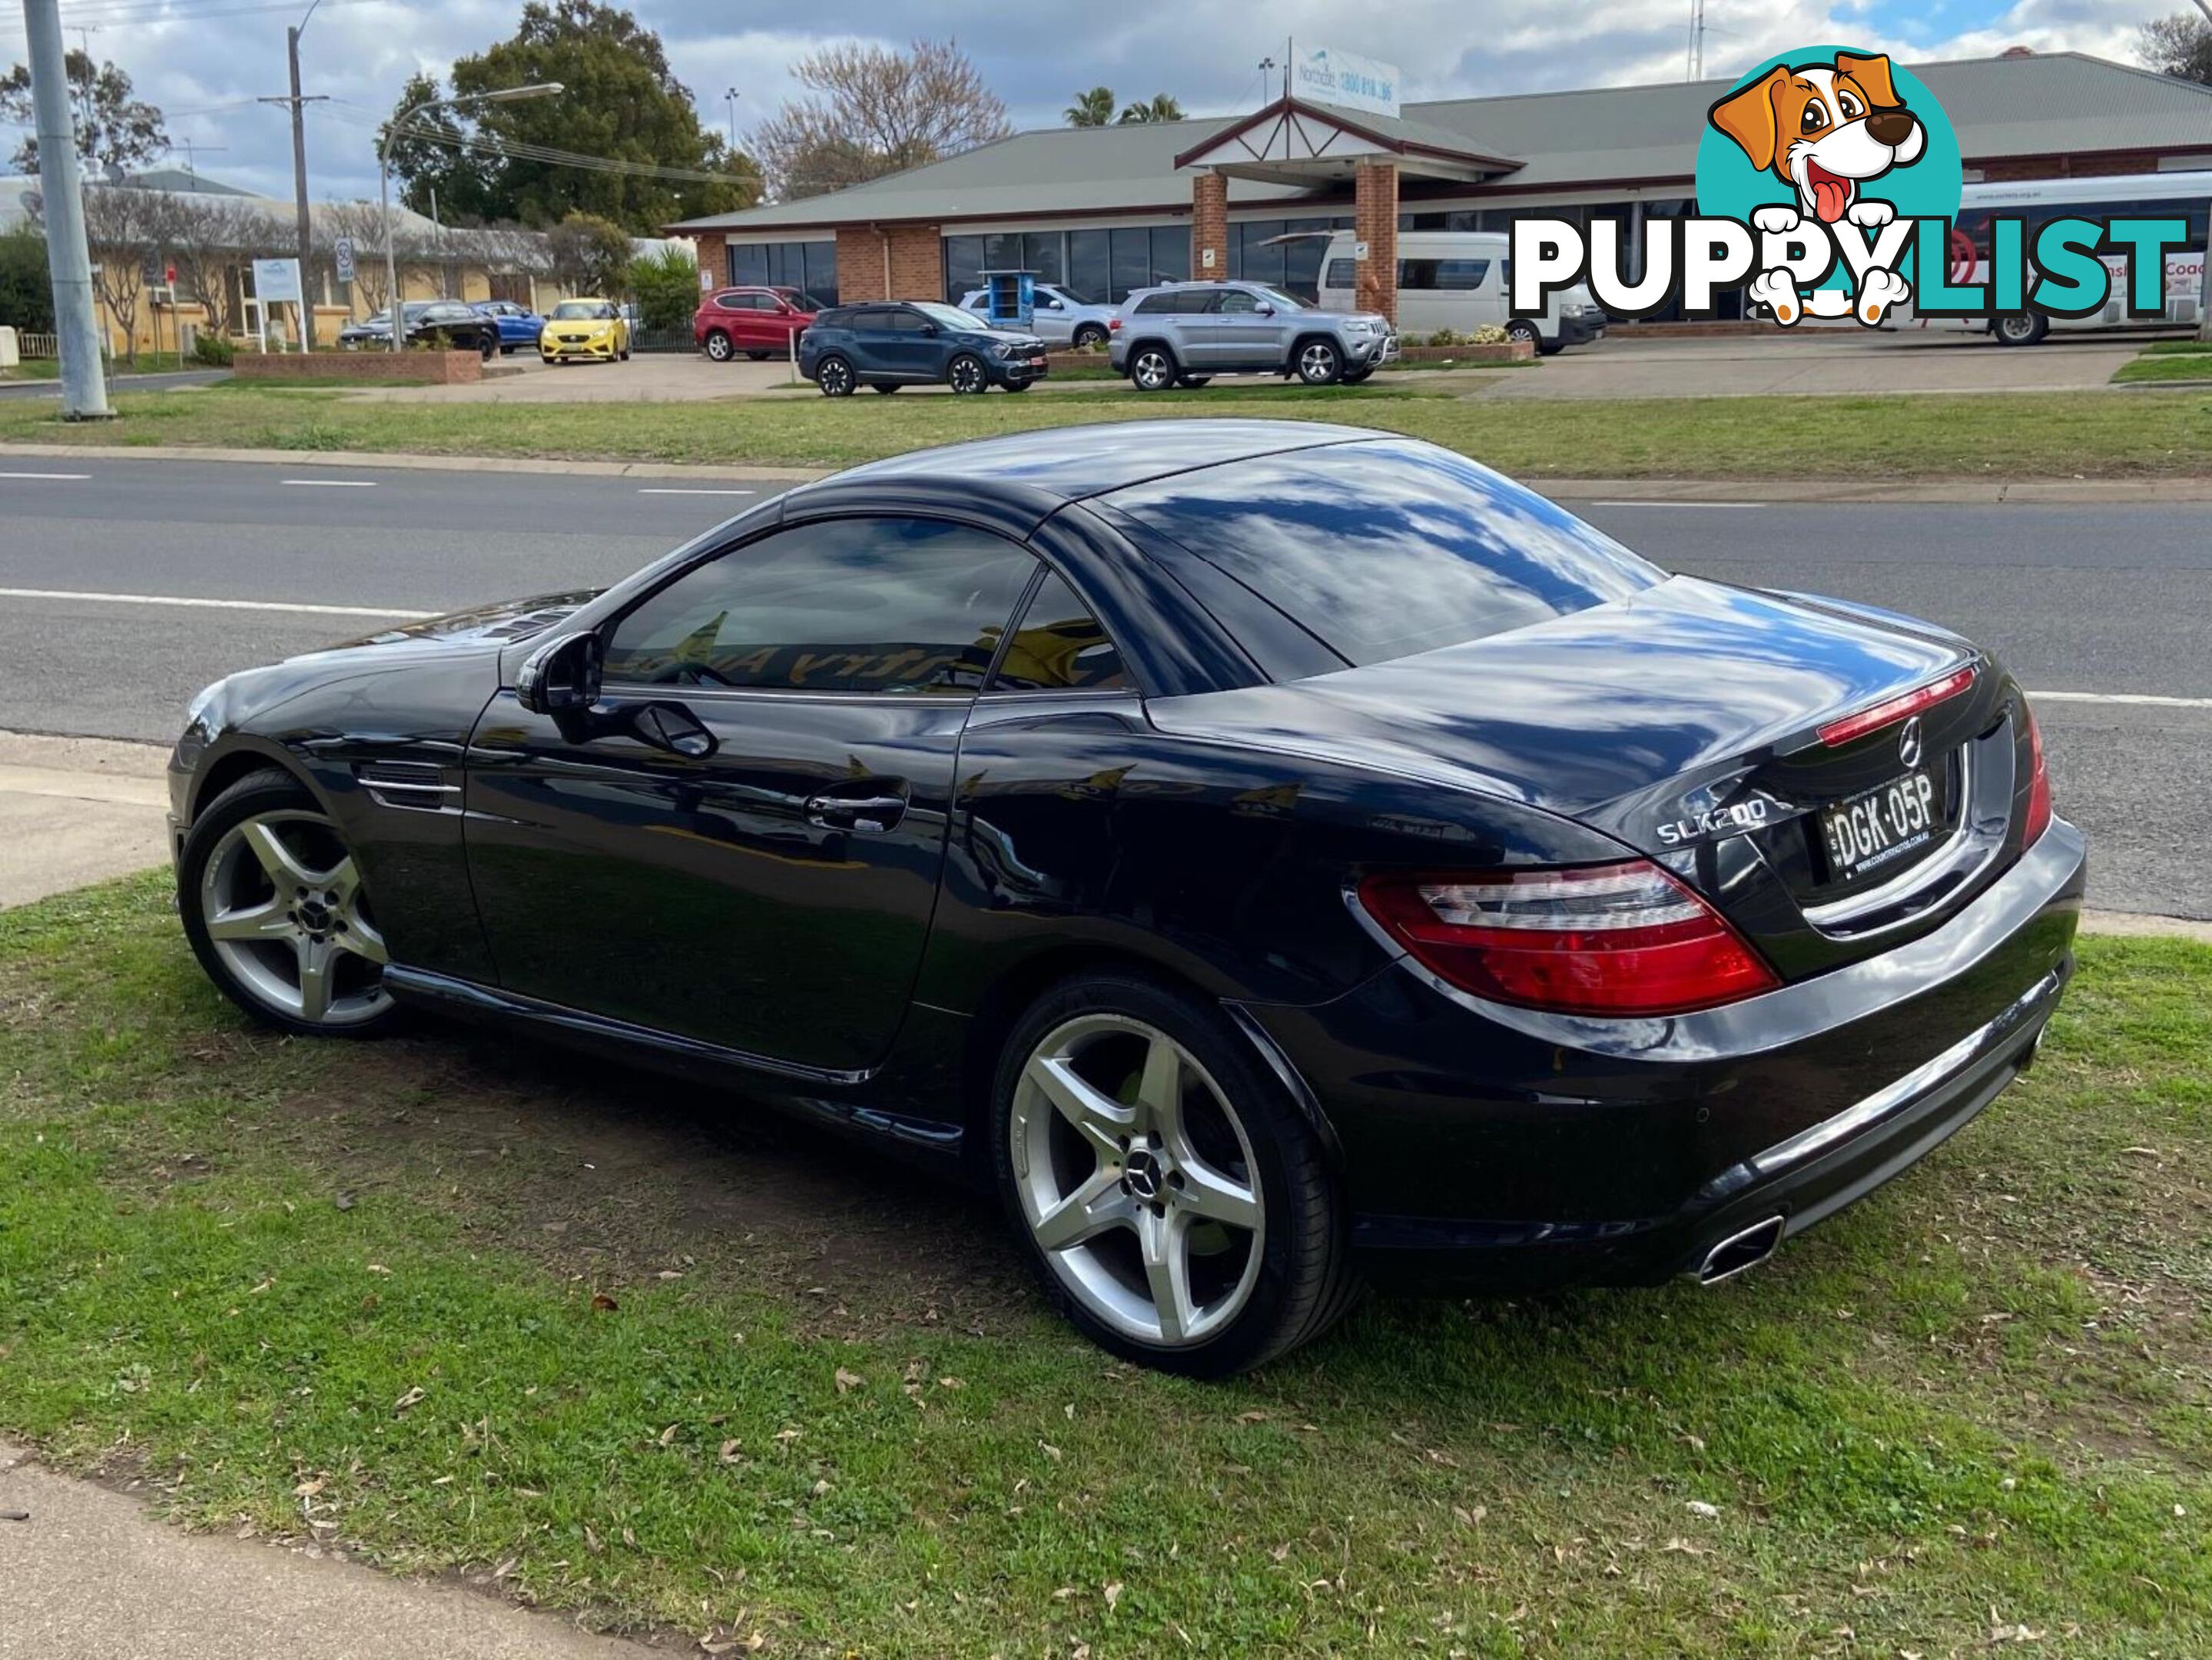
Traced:
<path fill-rule="evenodd" d="M 0 456 L 0 728 L 168 739 L 223 673 L 405 611 L 608 582 L 772 489 Z M 2039 693 L 2093 903 L 2212 919 L 2212 507 L 1571 505 L 1668 569 L 1995 649 Z"/>

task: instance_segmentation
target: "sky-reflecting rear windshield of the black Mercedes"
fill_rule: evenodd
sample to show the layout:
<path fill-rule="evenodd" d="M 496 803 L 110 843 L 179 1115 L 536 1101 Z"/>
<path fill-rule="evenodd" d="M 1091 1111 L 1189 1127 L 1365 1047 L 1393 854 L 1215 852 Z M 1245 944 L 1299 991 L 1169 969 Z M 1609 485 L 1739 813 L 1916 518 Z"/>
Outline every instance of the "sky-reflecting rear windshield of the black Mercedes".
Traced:
<path fill-rule="evenodd" d="M 1252 589 L 1347 664 L 1524 629 L 1666 571 L 1535 491 L 1411 438 L 1294 449 L 1106 502 Z"/>

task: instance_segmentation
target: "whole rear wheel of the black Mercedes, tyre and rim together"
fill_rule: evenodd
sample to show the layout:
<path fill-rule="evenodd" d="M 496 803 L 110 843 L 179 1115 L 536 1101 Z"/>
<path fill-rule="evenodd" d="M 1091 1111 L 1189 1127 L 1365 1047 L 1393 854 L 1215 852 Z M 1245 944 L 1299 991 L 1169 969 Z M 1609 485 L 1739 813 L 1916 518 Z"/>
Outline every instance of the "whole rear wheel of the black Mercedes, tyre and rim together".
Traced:
<path fill-rule="evenodd" d="M 1006 1038 L 991 1124 L 1046 1290 L 1115 1355 L 1230 1377 L 1318 1337 L 1358 1293 L 1318 1138 L 1183 992 L 1133 974 L 1046 992 Z"/>

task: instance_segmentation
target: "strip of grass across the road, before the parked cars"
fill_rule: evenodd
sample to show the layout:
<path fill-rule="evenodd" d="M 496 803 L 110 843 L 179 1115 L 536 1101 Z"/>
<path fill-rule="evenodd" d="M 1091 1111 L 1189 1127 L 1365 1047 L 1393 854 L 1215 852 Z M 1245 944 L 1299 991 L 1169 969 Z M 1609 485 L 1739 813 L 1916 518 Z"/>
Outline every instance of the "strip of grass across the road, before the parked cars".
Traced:
<path fill-rule="evenodd" d="M 64 427 L 0 405 L 0 443 L 243 445 L 469 456 L 838 467 L 995 432 L 1088 421 L 1283 416 L 1433 438 L 1524 478 L 2115 478 L 2203 474 L 2212 396 L 1984 394 L 1513 401 L 1444 385 L 1121 390 L 982 398 L 717 403 L 372 403 L 219 385 L 115 398 L 119 421 Z"/>

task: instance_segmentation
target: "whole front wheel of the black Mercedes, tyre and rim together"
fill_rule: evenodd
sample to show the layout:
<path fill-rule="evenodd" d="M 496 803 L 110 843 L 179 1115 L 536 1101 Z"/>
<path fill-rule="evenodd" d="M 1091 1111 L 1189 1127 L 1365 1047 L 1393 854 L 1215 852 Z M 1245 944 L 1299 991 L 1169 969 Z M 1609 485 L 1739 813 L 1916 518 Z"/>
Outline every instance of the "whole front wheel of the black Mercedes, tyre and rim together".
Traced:
<path fill-rule="evenodd" d="M 252 772 L 201 808 L 177 910 L 208 978 L 263 1025 L 363 1038 L 398 1014 L 354 857 L 290 772 Z"/>

